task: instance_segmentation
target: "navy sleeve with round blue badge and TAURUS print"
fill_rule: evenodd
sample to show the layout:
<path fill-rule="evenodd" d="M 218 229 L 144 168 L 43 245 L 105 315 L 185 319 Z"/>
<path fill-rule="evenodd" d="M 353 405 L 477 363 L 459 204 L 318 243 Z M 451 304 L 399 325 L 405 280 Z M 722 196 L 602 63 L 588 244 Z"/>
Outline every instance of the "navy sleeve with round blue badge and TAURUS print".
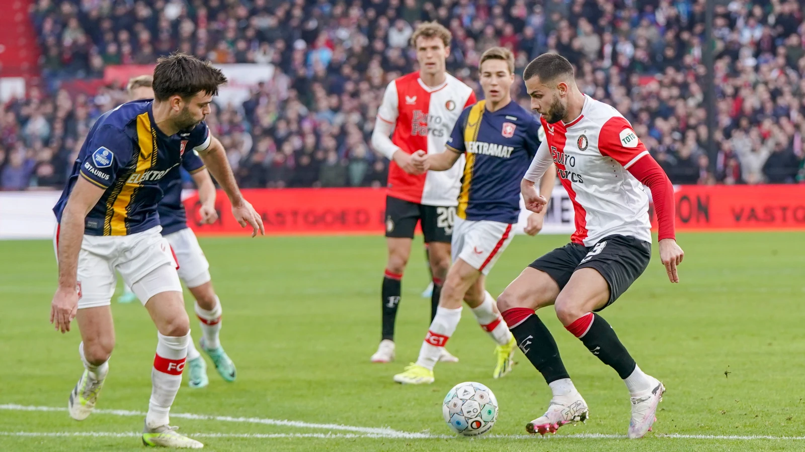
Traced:
<path fill-rule="evenodd" d="M 120 169 L 131 161 L 134 141 L 113 125 L 101 125 L 87 141 L 81 176 L 98 187 L 108 188 L 117 179 Z"/>

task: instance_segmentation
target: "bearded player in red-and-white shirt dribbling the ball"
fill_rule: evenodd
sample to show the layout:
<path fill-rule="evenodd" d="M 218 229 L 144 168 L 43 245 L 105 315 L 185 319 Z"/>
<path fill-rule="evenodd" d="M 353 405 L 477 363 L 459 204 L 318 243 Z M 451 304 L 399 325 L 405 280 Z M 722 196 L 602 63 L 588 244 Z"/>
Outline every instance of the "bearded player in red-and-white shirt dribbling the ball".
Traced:
<path fill-rule="evenodd" d="M 520 349 L 553 392 L 547 412 L 526 429 L 531 434 L 552 433 L 589 415 L 550 331 L 535 314 L 555 305 L 564 327 L 624 380 L 632 405 L 628 436 L 642 438 L 656 421 L 665 387 L 642 372 L 613 328 L 596 313 L 615 302 L 649 264 L 651 224 L 643 185 L 654 199 L 660 259 L 671 282 L 679 282 L 676 265 L 683 252 L 674 234 L 674 188 L 629 121 L 580 92 L 573 67 L 563 56 L 539 55 L 522 78 L 531 108 L 543 115 L 546 131 L 522 179 L 522 197 L 529 210 L 543 212 L 547 199 L 535 186 L 555 164 L 576 219 L 571 243 L 531 263 L 497 298 Z"/>

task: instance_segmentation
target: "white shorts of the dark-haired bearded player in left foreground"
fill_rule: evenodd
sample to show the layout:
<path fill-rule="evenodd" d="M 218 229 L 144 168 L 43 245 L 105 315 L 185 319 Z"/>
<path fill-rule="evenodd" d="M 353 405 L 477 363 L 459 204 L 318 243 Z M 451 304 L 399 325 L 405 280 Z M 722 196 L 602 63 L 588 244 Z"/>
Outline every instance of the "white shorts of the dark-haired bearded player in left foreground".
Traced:
<path fill-rule="evenodd" d="M 59 258 L 59 225 L 53 234 Z M 155 294 L 182 291 L 171 245 L 161 226 L 128 236 L 84 236 L 78 253 L 78 309 L 109 306 L 118 285 L 115 271 L 143 305 Z M 141 284 L 138 282 L 142 281 Z"/>

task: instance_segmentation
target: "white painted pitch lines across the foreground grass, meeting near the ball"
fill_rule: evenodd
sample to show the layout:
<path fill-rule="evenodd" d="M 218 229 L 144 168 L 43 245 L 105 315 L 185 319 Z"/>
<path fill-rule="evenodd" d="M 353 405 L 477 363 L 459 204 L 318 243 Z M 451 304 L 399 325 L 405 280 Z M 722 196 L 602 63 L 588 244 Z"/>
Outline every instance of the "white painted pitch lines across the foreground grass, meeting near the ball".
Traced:
<path fill-rule="evenodd" d="M 66 408 L 51 407 L 51 406 L 27 406 L 27 405 L 14 405 L 6 404 L 0 405 L 0 409 L 9 411 L 66 411 Z M 114 416 L 137 416 L 143 417 L 146 413 L 141 411 L 130 411 L 125 409 L 97 409 L 94 411 L 97 414 L 111 414 Z M 403 432 L 390 428 L 373 428 L 373 427 L 353 427 L 350 425 L 340 424 L 315 424 L 303 421 L 286 421 L 277 419 L 264 419 L 261 417 L 230 417 L 230 416 L 211 416 L 204 414 L 192 413 L 173 413 L 172 417 L 180 417 L 183 419 L 195 419 L 204 421 L 229 421 L 229 422 L 243 422 L 250 424 L 263 424 L 263 425 L 284 425 L 290 427 L 309 428 L 309 429 L 330 429 L 352 431 L 358 434 L 188 434 L 190 437 L 196 438 L 403 438 L 403 439 L 444 439 L 444 438 L 460 438 L 456 435 L 434 435 L 428 433 L 410 433 Z M 15 436 L 15 437 L 112 437 L 112 438 L 133 438 L 139 437 L 142 433 L 139 432 L 3 432 L 0 431 L 0 436 Z M 729 440 L 729 441 L 754 441 L 754 440 L 782 440 L 782 441 L 802 441 L 805 436 L 770 436 L 770 435 L 693 435 L 693 434 L 654 434 L 656 438 L 669 438 L 669 439 L 699 439 L 699 440 Z M 559 434 L 549 435 L 546 437 L 537 437 L 532 435 L 483 435 L 477 439 L 508 439 L 508 440 L 559 440 L 559 439 L 624 439 L 625 435 L 617 434 Z"/>

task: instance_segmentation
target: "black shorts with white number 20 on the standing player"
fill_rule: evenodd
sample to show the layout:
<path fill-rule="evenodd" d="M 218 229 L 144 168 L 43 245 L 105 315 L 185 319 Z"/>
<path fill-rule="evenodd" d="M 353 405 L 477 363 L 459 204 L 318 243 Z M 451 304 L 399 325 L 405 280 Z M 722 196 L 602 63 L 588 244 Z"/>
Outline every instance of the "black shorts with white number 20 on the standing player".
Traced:
<path fill-rule="evenodd" d="M 426 206 L 386 196 L 386 237 L 412 239 L 419 221 L 425 243 L 450 243 L 456 207 Z"/>

